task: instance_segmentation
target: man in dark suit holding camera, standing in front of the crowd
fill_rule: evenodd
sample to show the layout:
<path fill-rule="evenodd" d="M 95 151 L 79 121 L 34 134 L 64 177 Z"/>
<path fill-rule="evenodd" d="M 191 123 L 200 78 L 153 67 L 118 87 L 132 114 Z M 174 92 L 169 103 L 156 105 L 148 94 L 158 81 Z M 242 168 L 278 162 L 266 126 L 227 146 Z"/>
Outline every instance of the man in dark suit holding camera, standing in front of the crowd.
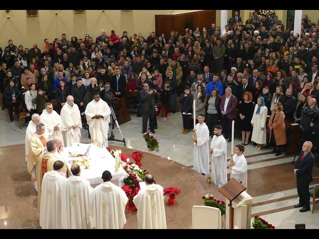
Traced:
<path fill-rule="evenodd" d="M 150 131 L 155 133 L 154 118 L 155 118 L 155 96 L 154 90 L 149 90 L 149 84 L 143 84 L 143 90 L 139 92 L 143 107 L 143 133 L 146 133 L 148 127 L 148 119 L 150 119 Z"/>

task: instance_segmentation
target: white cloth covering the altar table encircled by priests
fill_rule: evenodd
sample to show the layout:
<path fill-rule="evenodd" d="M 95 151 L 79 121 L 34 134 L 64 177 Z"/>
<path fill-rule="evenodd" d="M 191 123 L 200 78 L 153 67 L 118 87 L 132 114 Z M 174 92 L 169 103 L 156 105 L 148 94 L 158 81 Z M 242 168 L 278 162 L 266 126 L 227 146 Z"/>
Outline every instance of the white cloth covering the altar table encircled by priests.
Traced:
<path fill-rule="evenodd" d="M 89 145 L 91 145 L 91 147 L 86 156 L 90 166 L 88 169 L 85 169 L 85 167 L 81 165 L 81 176 L 87 179 L 91 185 L 100 184 L 103 183 L 102 173 L 108 170 L 112 174 L 112 182 L 122 187 L 124 185 L 123 180 L 127 178 L 129 174 L 122 167 L 119 168 L 117 173 L 115 172 L 115 158 L 105 147 L 98 148 L 92 143 L 73 143 L 71 147 L 65 147 L 62 156 L 67 167 L 71 169 L 72 162 L 70 163 L 69 161 L 74 159 L 69 152 L 84 154 Z"/>

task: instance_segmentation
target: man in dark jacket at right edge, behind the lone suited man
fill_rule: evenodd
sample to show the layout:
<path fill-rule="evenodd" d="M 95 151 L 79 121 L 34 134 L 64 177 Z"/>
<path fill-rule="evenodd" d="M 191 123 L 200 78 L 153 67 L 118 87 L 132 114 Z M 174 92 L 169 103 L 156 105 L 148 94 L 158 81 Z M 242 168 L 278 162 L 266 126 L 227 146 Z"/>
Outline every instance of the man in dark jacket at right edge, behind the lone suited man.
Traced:
<path fill-rule="evenodd" d="M 303 111 L 300 127 L 303 131 L 303 141 L 315 143 L 319 134 L 319 109 L 314 98 L 309 99 L 308 104 Z"/>

